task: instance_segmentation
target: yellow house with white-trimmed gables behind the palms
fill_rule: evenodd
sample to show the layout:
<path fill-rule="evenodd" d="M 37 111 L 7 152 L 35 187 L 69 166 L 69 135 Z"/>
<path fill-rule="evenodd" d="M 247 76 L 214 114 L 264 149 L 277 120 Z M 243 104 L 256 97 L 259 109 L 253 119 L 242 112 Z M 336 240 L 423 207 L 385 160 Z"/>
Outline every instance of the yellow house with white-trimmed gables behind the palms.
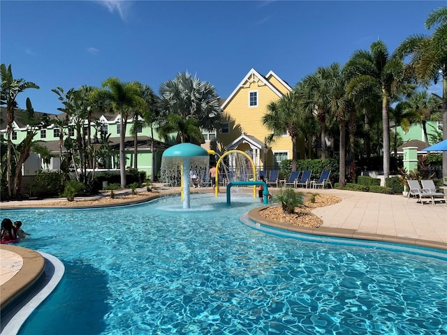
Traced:
<path fill-rule="evenodd" d="M 292 141 L 284 134 L 272 144 L 265 143 L 271 132 L 263 126 L 267 106 L 292 91 L 273 71 L 261 75 L 254 68 L 244 76 L 223 102 L 223 120 L 218 142 L 224 151 L 241 150 L 253 158 L 260 170 L 279 170 L 284 159 L 292 158 Z"/>

